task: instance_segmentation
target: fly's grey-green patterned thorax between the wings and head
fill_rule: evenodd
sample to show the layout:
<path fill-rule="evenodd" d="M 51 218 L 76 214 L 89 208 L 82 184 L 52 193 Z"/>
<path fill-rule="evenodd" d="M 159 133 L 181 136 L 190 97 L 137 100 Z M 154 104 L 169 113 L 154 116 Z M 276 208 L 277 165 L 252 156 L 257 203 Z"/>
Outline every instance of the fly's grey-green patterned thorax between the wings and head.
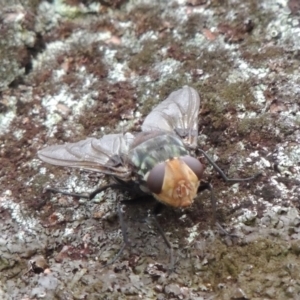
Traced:
<path fill-rule="evenodd" d="M 136 172 L 144 177 L 160 162 L 172 157 L 188 155 L 182 140 L 162 131 L 141 132 L 129 151 L 129 161 Z"/>

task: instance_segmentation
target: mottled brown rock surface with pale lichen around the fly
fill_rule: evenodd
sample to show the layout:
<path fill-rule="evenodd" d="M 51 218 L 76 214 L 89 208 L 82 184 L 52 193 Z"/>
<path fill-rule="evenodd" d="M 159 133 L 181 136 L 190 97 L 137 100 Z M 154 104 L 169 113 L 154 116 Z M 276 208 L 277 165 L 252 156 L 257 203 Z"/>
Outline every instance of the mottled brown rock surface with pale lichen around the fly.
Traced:
<path fill-rule="evenodd" d="M 8 4 L 9 2 L 9 4 Z M 300 6 L 262 1 L 0 1 L 1 299 L 299 299 Z M 199 146 L 218 198 L 159 222 L 127 205 L 122 246 L 109 178 L 42 163 L 46 144 L 139 131 L 184 85 L 201 96 Z"/>

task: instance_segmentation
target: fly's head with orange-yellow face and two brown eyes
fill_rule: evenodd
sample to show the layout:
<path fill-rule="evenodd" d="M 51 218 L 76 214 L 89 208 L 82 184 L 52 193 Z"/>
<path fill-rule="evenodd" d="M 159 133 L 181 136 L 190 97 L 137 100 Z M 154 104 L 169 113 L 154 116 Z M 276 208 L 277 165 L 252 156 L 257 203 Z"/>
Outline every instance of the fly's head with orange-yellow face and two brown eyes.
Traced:
<path fill-rule="evenodd" d="M 202 164 L 183 156 L 157 164 L 148 174 L 147 187 L 160 202 L 173 207 L 192 205 L 203 174 Z"/>

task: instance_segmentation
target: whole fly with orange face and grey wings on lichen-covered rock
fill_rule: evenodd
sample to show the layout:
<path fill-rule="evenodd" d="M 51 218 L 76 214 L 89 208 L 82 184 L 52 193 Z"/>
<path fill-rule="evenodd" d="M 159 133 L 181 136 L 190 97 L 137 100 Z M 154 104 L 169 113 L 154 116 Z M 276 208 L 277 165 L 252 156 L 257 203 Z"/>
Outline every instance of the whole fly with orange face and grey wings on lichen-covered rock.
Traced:
<path fill-rule="evenodd" d="M 152 110 L 145 118 L 140 133 L 108 134 L 100 139 L 87 138 L 76 143 L 49 146 L 40 150 L 38 156 L 53 165 L 100 172 L 116 179 L 117 183 L 100 187 L 86 198 L 92 199 L 108 187 L 126 188 L 138 184 L 142 192 L 152 194 L 159 203 L 171 207 L 189 207 L 198 193 L 204 171 L 201 162 L 193 157 L 197 148 L 199 106 L 197 91 L 184 86 L 172 92 Z M 204 155 L 226 182 L 249 181 L 260 175 L 243 179 L 228 178 L 203 150 L 197 151 Z M 59 192 L 56 189 L 49 190 Z M 215 213 L 213 194 L 212 203 Z M 119 206 L 118 213 L 122 220 Z M 156 218 L 155 222 L 171 250 L 172 265 L 171 244 Z M 122 233 L 126 244 L 123 225 Z"/>

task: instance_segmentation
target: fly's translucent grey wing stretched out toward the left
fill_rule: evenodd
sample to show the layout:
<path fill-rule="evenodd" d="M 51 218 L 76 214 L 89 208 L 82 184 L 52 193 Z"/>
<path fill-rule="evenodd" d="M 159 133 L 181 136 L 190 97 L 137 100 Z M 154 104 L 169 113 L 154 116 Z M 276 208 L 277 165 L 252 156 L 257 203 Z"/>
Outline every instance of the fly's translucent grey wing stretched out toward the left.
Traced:
<path fill-rule="evenodd" d="M 101 139 L 88 138 L 77 143 L 54 145 L 38 152 L 44 162 L 63 167 L 82 168 L 126 179 L 130 175 L 123 158 L 134 136 L 108 134 Z"/>

